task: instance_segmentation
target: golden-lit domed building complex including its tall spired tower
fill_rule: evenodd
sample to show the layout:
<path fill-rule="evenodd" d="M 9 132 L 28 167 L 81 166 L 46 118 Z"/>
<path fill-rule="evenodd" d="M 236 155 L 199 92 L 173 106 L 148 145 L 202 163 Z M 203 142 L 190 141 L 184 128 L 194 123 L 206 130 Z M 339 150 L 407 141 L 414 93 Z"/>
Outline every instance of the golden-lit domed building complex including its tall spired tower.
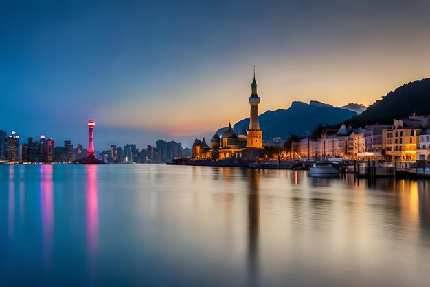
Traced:
<path fill-rule="evenodd" d="M 257 95 L 256 74 L 254 72 L 253 82 L 251 84 L 252 94 L 249 97 L 249 105 L 251 105 L 249 129 L 247 135 L 236 135 L 231 128 L 231 123 L 228 127 L 218 129 L 210 140 L 210 147 L 207 146 L 205 138 L 203 140 L 196 139 L 192 145 L 192 157 L 207 160 L 222 160 L 225 158 L 249 158 L 255 159 L 263 149 L 262 146 L 262 131 L 258 122 L 258 104 L 260 97 Z"/>

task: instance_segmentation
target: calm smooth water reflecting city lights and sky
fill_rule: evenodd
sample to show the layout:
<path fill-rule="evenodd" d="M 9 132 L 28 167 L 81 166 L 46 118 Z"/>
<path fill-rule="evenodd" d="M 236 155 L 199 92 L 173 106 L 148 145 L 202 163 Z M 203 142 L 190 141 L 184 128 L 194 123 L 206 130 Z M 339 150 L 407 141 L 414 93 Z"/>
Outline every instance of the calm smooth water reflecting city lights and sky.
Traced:
<path fill-rule="evenodd" d="M 0 166 L 0 286 L 429 286 L 430 181 Z"/>

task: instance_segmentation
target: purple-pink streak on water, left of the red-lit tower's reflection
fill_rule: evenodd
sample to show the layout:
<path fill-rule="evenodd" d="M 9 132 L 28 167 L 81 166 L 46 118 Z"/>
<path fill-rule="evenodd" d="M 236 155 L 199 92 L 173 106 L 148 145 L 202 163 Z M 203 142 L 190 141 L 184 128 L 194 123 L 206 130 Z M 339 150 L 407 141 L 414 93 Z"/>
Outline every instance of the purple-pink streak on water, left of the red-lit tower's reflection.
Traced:
<path fill-rule="evenodd" d="M 41 216 L 43 230 L 43 253 L 45 261 L 52 259 L 54 233 L 54 194 L 52 182 L 52 165 L 41 165 Z"/>

